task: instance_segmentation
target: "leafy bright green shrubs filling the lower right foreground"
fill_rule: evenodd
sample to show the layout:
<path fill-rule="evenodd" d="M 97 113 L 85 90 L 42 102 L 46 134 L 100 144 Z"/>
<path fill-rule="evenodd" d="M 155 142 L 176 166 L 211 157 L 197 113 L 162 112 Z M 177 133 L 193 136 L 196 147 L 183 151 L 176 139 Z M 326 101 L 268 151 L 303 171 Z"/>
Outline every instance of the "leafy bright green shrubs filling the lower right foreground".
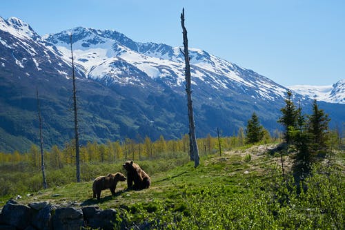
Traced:
<path fill-rule="evenodd" d="M 344 229 L 344 175 L 319 165 L 312 172 L 302 193 L 277 170 L 237 193 L 219 183 L 184 186 L 175 203 L 135 204 L 126 221 L 140 226 L 144 218 L 150 229 Z"/>

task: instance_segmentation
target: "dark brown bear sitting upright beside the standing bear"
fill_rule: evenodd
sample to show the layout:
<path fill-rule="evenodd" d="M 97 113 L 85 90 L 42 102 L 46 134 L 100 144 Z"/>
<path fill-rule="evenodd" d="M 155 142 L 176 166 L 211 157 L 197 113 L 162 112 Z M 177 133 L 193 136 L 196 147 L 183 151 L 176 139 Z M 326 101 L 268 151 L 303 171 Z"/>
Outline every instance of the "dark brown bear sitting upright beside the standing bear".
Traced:
<path fill-rule="evenodd" d="M 133 161 L 127 161 L 122 166 L 127 171 L 127 189 L 148 189 L 151 184 L 150 177 Z M 134 185 L 132 186 L 132 183 Z"/>

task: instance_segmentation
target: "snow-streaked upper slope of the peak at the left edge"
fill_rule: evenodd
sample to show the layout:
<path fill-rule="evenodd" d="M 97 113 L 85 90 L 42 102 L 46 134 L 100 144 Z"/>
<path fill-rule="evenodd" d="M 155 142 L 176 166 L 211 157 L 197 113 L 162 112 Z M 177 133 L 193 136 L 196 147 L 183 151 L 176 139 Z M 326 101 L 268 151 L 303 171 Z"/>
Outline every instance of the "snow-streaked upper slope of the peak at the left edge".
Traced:
<path fill-rule="evenodd" d="M 9 68 L 18 77 L 37 75 L 37 71 L 46 71 L 41 75 L 63 75 L 70 67 L 70 61 L 64 59 L 57 48 L 37 35 L 28 23 L 15 17 L 5 20 L 0 17 L 0 67 Z M 70 72 L 70 71 L 68 71 Z"/>

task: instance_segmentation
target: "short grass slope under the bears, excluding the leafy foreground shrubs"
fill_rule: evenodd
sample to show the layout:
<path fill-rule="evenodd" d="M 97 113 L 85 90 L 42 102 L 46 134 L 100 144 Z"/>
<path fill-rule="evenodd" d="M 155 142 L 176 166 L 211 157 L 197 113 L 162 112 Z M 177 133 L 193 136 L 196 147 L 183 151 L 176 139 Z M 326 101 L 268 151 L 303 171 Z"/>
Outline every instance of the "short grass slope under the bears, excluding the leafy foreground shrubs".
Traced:
<path fill-rule="evenodd" d="M 250 179 L 257 172 L 244 174 L 244 171 L 250 168 L 253 161 L 244 162 L 241 153 L 225 153 L 221 157 L 217 155 L 208 155 L 201 157 L 201 164 L 195 169 L 194 163 L 188 161 L 188 156 L 178 155 L 175 159 L 168 155 L 170 159 L 146 160 L 138 162 L 140 166 L 151 176 L 152 185 L 150 189 L 143 191 L 124 191 L 126 182 L 117 184 L 118 195 L 110 196 L 110 191 L 102 191 L 101 202 L 92 200 L 92 180 L 98 175 L 106 175 L 121 171 L 125 173 L 118 164 L 88 164 L 81 166 L 81 177 L 83 182 L 71 182 L 71 178 L 75 177 L 75 167 L 66 166 L 61 170 L 47 170 L 47 182 L 50 186 L 46 190 L 35 191 L 33 184 L 39 186 L 41 184 L 41 173 L 37 172 L 31 176 L 30 191 L 25 193 L 13 191 L 15 195 L 21 195 L 21 202 L 33 202 L 35 200 L 47 200 L 52 203 L 64 203 L 68 201 L 82 204 L 99 204 L 102 208 L 116 207 L 121 204 L 136 204 L 137 202 L 147 202 L 151 199 L 159 199 L 164 201 L 167 197 L 178 196 L 178 191 L 184 186 L 190 188 L 202 188 L 208 184 L 243 184 L 245 180 Z M 259 161 L 262 161 L 260 159 Z M 28 173 L 29 174 L 29 173 Z M 19 177 L 20 175 L 17 175 Z M 54 178 L 54 179 L 52 179 Z M 13 179 L 14 180 L 14 179 Z M 72 179 L 73 181 L 74 179 Z M 66 184 L 68 183 L 68 184 Z M 65 185 L 64 185 L 65 184 Z M 33 194 L 28 197 L 27 194 Z M 59 194 L 58 196 L 53 196 Z M 8 196 L 1 198 L 2 206 L 6 202 Z M 114 206 L 115 205 L 115 206 Z"/>

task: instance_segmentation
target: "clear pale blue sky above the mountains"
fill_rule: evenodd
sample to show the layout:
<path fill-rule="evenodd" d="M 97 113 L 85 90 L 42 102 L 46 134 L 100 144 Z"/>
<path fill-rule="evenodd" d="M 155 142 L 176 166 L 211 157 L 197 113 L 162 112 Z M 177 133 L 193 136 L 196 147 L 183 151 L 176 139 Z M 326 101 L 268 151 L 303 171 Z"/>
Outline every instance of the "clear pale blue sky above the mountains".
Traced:
<path fill-rule="evenodd" d="M 0 6 L 0 17 L 18 17 L 39 35 L 83 26 L 170 46 L 182 45 L 184 7 L 190 47 L 283 86 L 345 78 L 343 0 L 16 0 Z"/>

